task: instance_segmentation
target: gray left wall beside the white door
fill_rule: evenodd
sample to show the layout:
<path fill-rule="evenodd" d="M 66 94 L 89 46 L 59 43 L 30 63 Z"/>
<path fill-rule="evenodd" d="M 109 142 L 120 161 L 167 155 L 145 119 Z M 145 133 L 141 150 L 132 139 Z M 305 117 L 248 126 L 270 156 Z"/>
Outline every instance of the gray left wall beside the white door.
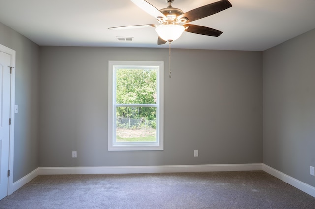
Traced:
<path fill-rule="evenodd" d="M 17 181 L 39 166 L 38 70 L 39 46 L 0 23 L 0 44 L 16 51 L 14 174 Z"/>

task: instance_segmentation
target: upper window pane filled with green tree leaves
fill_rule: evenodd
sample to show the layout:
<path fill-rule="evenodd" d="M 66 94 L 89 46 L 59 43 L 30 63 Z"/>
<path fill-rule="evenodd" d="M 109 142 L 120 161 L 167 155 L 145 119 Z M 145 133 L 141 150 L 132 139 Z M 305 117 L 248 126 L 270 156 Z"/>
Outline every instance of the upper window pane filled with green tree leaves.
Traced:
<path fill-rule="evenodd" d="M 156 69 L 116 70 L 116 104 L 156 104 Z"/>

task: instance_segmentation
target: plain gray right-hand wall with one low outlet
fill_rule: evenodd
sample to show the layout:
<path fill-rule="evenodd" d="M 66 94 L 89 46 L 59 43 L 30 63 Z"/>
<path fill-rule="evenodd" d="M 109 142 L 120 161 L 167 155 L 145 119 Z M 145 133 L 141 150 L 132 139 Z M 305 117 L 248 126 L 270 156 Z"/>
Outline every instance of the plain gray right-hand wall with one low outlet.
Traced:
<path fill-rule="evenodd" d="M 315 186 L 315 30 L 263 52 L 263 162 Z"/>

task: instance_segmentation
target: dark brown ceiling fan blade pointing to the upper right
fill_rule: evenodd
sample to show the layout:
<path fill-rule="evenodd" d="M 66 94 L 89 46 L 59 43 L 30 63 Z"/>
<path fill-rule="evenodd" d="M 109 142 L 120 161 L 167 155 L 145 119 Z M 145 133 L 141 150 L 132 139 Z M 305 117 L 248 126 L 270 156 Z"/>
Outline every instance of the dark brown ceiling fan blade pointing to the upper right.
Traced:
<path fill-rule="evenodd" d="M 189 12 L 186 12 L 178 16 L 178 20 L 185 18 L 187 19 L 185 23 L 189 23 L 191 21 L 199 20 L 201 18 L 208 17 L 210 15 L 221 12 L 227 8 L 230 8 L 231 6 L 232 4 L 228 0 L 217 1 L 208 5 L 193 9 Z"/>

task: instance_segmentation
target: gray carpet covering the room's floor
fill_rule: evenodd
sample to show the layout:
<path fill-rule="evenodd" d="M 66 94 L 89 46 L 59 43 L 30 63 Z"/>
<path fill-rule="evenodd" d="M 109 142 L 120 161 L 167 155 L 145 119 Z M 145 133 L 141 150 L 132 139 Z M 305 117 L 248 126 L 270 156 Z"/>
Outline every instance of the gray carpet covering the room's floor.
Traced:
<path fill-rule="evenodd" d="M 42 175 L 0 208 L 315 209 L 315 198 L 263 171 Z"/>

